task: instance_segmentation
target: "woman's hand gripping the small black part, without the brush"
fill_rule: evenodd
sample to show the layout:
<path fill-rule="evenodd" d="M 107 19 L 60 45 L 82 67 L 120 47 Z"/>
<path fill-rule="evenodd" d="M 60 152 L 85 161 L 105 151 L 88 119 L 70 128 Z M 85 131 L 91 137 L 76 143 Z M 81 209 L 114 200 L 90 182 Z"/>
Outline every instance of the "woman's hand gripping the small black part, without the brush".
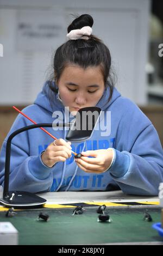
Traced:
<path fill-rule="evenodd" d="M 114 156 L 113 149 L 87 150 L 81 154 L 83 155 L 82 157 L 74 160 L 86 173 L 105 172 L 109 168 Z M 93 156 L 93 158 L 87 156 Z"/>

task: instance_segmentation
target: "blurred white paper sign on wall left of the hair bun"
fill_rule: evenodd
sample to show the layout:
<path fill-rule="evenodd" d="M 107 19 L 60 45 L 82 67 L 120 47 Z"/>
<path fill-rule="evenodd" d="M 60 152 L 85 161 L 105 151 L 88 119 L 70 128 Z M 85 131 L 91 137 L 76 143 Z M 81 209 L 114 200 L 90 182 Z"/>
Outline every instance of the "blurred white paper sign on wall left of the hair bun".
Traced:
<path fill-rule="evenodd" d="M 65 41 L 62 11 L 17 10 L 16 48 L 18 51 L 47 51 Z"/>

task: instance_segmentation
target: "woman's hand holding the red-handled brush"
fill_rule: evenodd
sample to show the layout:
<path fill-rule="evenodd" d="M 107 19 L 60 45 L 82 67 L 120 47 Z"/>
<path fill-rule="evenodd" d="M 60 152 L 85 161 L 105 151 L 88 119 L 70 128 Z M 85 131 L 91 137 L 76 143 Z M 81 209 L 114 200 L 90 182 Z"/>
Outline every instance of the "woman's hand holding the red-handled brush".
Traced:
<path fill-rule="evenodd" d="M 48 145 L 45 152 L 41 156 L 42 162 L 52 167 L 55 163 L 65 162 L 68 157 L 71 157 L 71 142 L 66 142 L 64 139 L 56 139 L 55 144 L 52 142 Z"/>

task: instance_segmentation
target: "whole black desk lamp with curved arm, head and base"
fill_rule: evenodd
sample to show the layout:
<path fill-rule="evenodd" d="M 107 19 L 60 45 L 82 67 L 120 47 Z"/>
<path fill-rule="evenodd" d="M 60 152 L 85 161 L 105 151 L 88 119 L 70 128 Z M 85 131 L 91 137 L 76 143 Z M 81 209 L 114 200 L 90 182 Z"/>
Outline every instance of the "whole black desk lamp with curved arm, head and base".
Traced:
<path fill-rule="evenodd" d="M 83 116 L 83 113 L 86 114 Z M 91 114 L 93 119 L 91 120 L 90 125 L 90 117 Z M 3 190 L 3 198 L 0 198 L 0 203 L 7 207 L 15 207 L 15 208 L 37 208 L 46 203 L 46 199 L 43 199 L 37 196 L 34 193 L 26 192 L 26 191 L 9 191 L 9 174 L 10 174 L 10 156 L 11 156 L 11 140 L 16 135 L 23 131 L 27 131 L 30 129 L 35 129 L 39 127 L 69 127 L 70 130 L 67 132 L 66 139 L 68 141 L 80 142 L 85 141 L 90 138 L 92 131 L 97 123 L 99 115 L 101 114 L 101 108 L 98 107 L 86 107 L 80 108 L 77 112 L 76 119 L 74 119 L 72 125 L 71 123 L 63 123 L 63 124 L 34 124 L 26 127 L 22 127 L 21 129 L 16 130 L 11 133 L 7 140 L 6 146 L 6 155 L 5 155 L 5 174 L 4 174 L 4 190 Z M 83 118 L 82 118 L 83 117 Z M 85 119 L 86 117 L 86 119 Z M 77 130 L 76 126 L 80 122 L 80 127 L 84 127 L 84 130 Z M 83 125 L 84 124 L 84 125 Z M 91 129 L 90 129 L 91 127 Z"/>

